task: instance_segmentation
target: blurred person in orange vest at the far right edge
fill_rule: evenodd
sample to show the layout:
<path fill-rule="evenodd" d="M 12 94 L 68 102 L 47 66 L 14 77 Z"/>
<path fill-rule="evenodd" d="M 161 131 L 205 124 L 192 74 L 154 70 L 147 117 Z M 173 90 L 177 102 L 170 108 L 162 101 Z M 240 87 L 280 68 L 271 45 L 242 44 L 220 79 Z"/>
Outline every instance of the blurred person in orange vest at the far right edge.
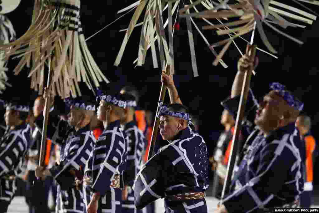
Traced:
<path fill-rule="evenodd" d="M 305 153 L 303 162 L 303 178 L 305 181 L 304 191 L 300 195 L 300 207 L 301 208 L 310 208 L 313 203 L 313 172 L 314 172 L 314 164 L 315 158 L 317 156 L 316 152 L 316 142 L 315 138 L 311 135 L 311 118 L 307 115 L 300 115 L 296 120 L 296 127 L 300 132 L 302 147 L 305 147 L 305 152 L 301 150 L 301 152 Z M 302 155 L 301 155 L 301 158 Z"/>

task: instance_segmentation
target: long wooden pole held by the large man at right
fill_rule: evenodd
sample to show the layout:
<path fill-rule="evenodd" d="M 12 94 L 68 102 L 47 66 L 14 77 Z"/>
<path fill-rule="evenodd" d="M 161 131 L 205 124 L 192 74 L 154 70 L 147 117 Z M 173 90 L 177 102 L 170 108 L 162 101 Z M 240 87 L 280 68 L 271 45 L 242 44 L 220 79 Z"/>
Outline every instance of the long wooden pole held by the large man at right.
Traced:
<path fill-rule="evenodd" d="M 251 60 L 255 59 L 256 56 L 256 45 L 253 45 L 254 42 L 254 35 L 255 35 L 255 29 L 256 29 L 256 21 L 254 24 L 254 29 L 253 33 L 251 35 L 251 41 L 250 44 L 248 44 L 250 48 L 248 54 Z M 238 149 L 238 142 L 239 142 L 239 135 L 241 132 L 241 121 L 244 117 L 244 112 L 245 112 L 245 107 L 246 107 L 246 102 L 247 102 L 247 97 L 249 93 L 249 87 L 250 87 L 250 79 L 251 79 L 251 73 L 254 69 L 254 65 L 249 67 L 249 69 L 245 72 L 244 76 L 244 81 L 241 89 L 241 97 L 240 97 L 240 102 L 239 102 L 239 107 L 238 107 L 238 112 L 237 112 L 237 118 L 236 118 L 236 124 L 235 124 L 235 130 L 234 130 L 234 135 L 233 135 L 233 143 L 232 143 L 232 148 L 230 151 L 230 156 L 229 156 L 229 161 L 227 165 L 227 173 L 226 177 L 224 180 L 224 186 L 223 186 L 223 191 L 221 194 L 221 204 L 223 203 L 223 199 L 226 193 L 229 191 L 229 187 L 231 184 L 232 180 L 232 174 L 234 170 L 234 165 L 235 165 L 235 160 L 236 160 L 236 153 Z"/>

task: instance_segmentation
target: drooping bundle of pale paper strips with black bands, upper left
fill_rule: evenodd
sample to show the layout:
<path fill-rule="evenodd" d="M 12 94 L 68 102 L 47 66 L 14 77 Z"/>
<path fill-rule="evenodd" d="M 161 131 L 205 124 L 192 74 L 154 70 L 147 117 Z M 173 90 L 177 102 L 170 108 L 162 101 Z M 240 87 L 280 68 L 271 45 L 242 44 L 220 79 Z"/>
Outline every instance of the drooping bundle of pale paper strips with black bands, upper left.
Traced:
<path fill-rule="evenodd" d="M 24 66 L 31 68 L 31 88 L 43 93 L 45 66 L 50 67 L 49 89 L 61 98 L 81 96 L 78 82 L 94 93 L 103 80 L 109 81 L 95 63 L 80 22 L 80 0 L 35 0 L 32 23 L 14 42 L 1 45 L 5 59 L 21 57 L 14 74 Z M 93 83 L 92 83 L 93 81 Z M 94 93 L 95 94 L 95 93 Z"/>

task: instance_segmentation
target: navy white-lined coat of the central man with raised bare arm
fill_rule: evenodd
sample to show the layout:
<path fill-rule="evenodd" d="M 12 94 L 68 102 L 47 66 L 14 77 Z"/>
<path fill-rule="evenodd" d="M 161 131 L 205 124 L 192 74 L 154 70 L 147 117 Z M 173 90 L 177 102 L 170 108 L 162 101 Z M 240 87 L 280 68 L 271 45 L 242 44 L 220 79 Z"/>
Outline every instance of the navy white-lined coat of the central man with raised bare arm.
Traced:
<path fill-rule="evenodd" d="M 208 156 L 204 139 L 183 129 L 175 140 L 160 148 L 137 174 L 134 183 L 136 205 L 145 207 L 158 198 L 208 188 Z M 165 212 L 207 212 L 205 199 L 170 201 L 165 198 Z"/>

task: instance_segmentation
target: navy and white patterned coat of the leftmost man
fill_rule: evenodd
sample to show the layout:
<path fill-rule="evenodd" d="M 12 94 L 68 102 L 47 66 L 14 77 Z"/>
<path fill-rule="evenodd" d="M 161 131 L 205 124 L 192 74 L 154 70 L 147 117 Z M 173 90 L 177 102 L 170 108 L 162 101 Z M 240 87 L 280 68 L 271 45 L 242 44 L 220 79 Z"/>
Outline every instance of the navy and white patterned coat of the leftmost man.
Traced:
<path fill-rule="evenodd" d="M 0 140 L 0 212 L 8 207 L 16 191 L 15 179 L 30 144 L 31 128 L 21 124 L 4 133 Z"/>

